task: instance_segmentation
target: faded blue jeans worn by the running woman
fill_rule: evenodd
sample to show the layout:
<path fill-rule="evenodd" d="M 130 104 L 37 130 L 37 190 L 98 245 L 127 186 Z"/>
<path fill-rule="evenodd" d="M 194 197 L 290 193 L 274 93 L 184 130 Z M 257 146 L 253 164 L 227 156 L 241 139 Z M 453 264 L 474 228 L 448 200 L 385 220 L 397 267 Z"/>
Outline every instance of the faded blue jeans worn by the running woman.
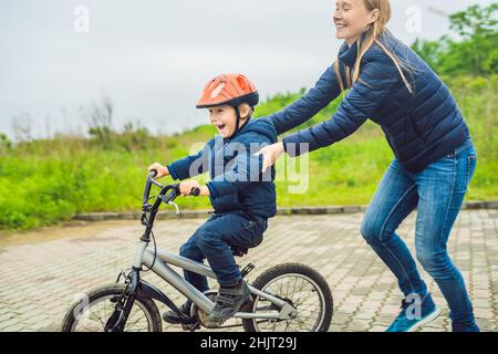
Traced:
<path fill-rule="evenodd" d="M 446 243 L 476 160 L 470 138 L 419 173 L 406 171 L 395 159 L 378 185 L 362 225 L 363 237 L 396 275 L 405 296 L 424 294 L 427 287 L 405 242 L 395 233 L 400 223 L 417 207 L 416 258 L 446 298 L 454 324 L 463 326 L 475 325 L 473 306 L 464 279 L 449 259 Z"/>

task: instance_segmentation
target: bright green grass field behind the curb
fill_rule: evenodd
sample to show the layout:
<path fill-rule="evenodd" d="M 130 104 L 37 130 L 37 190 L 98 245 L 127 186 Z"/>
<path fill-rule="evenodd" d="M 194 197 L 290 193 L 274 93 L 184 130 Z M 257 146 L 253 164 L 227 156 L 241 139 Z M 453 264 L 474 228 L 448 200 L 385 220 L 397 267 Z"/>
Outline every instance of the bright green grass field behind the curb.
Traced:
<path fill-rule="evenodd" d="M 498 76 L 446 79 L 469 124 L 478 153 L 468 200 L 498 199 Z M 270 97 L 257 116 L 277 112 L 301 93 Z M 340 98 L 301 126 L 328 119 Z M 9 146 L 0 139 L 0 229 L 53 225 L 74 214 L 139 210 L 146 167 L 185 156 L 194 143 L 215 134 L 209 125 L 173 136 L 151 136 L 145 129 L 113 133 L 94 139 L 58 137 Z M 277 166 L 279 206 L 367 204 L 393 154 L 380 127 L 366 123 L 353 136 L 309 155 L 305 194 L 291 194 L 299 180 Z M 295 159 L 299 166 L 301 160 Z M 206 180 L 206 176 L 199 179 Z M 164 183 L 168 183 L 167 178 Z M 185 209 L 209 208 L 207 198 L 185 198 Z"/>

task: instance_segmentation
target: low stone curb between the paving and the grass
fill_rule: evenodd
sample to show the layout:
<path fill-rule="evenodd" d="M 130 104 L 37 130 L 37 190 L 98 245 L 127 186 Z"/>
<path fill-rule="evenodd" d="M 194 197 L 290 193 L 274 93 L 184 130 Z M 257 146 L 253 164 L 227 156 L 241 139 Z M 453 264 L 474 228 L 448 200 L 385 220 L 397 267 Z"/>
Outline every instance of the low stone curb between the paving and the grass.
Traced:
<path fill-rule="evenodd" d="M 336 206 L 336 207 L 281 207 L 278 216 L 293 215 L 336 215 L 364 212 L 367 206 Z M 465 202 L 461 210 L 498 209 L 498 201 L 469 201 Z M 157 214 L 157 220 L 166 219 L 200 219 L 207 218 L 212 210 L 184 210 L 179 216 L 175 212 Z M 89 212 L 73 216 L 79 221 L 104 221 L 104 220 L 139 220 L 142 212 Z"/>

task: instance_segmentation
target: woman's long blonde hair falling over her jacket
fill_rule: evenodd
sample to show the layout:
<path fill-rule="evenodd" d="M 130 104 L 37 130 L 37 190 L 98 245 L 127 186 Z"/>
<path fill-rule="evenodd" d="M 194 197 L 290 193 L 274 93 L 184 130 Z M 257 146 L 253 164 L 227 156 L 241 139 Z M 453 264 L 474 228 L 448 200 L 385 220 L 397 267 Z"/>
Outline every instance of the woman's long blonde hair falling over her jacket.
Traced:
<path fill-rule="evenodd" d="M 341 91 L 344 91 L 344 87 L 350 88 L 353 83 L 355 83 L 360 77 L 360 64 L 362 62 L 363 55 L 370 50 L 370 48 L 375 43 L 377 44 L 385 54 L 391 58 L 394 65 L 396 66 L 397 71 L 400 72 L 400 75 L 405 83 L 406 87 L 408 88 L 409 93 L 413 94 L 413 87 L 412 84 L 406 79 L 405 74 L 403 73 L 403 69 L 405 69 L 408 73 L 411 72 L 409 64 L 403 62 L 400 58 L 397 58 L 392 50 L 388 49 L 388 44 L 383 44 L 378 38 L 384 34 L 386 31 L 386 24 L 391 20 L 391 3 L 390 0 L 363 0 L 366 9 L 369 11 L 378 10 L 380 15 L 378 19 L 371 24 L 369 30 L 366 31 L 366 37 L 364 41 L 362 39 L 357 40 L 357 56 L 356 61 L 354 63 L 354 70 L 353 70 L 353 79 L 351 80 L 351 67 L 345 65 L 345 76 L 346 76 L 346 86 L 344 86 L 344 82 L 341 75 L 341 70 L 339 65 L 339 60 L 335 61 L 334 67 L 335 73 L 339 79 L 339 85 L 341 86 Z"/>

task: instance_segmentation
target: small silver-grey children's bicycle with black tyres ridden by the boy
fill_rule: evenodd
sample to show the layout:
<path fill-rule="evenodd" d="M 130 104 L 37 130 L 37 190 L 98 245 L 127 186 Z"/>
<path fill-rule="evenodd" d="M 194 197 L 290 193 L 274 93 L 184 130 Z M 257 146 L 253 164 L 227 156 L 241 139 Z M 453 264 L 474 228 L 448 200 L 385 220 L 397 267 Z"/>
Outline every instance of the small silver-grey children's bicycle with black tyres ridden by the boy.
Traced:
<path fill-rule="evenodd" d="M 63 332 L 135 330 L 162 332 L 163 320 L 155 301 L 164 303 L 184 320 L 181 324 L 184 331 L 234 326 L 208 321 L 217 291 L 200 292 L 168 264 L 216 279 L 212 270 L 204 263 L 157 248 L 153 226 L 159 206 L 163 202 L 174 206 L 176 214 L 179 215 L 179 208 L 174 200 L 180 192 L 178 184 L 160 185 L 154 179 L 156 174 L 154 170 L 151 171 L 146 179 L 142 207 L 142 225 L 145 226 L 145 231 L 139 239 L 133 267 L 127 273 L 123 270 L 115 283 L 93 289 L 75 301 L 64 316 Z M 159 187 L 160 191 L 157 196 L 149 197 L 153 185 Z M 193 188 L 190 194 L 197 196 L 198 188 Z M 153 198 L 156 198 L 154 204 L 149 204 Z M 151 236 L 154 248 L 149 247 Z M 241 257 L 248 252 L 247 249 L 230 248 L 235 256 Z M 246 277 L 253 268 L 255 266 L 249 263 L 242 269 L 242 275 Z M 160 290 L 144 281 L 141 278 L 141 272 L 144 271 L 153 271 L 189 299 L 193 303 L 190 317 L 186 316 Z M 124 282 L 121 283 L 122 278 Z M 241 319 L 246 332 L 329 330 L 333 314 L 331 290 L 323 277 L 312 268 L 300 263 L 279 264 L 261 273 L 248 285 L 251 299 L 234 315 Z"/>

